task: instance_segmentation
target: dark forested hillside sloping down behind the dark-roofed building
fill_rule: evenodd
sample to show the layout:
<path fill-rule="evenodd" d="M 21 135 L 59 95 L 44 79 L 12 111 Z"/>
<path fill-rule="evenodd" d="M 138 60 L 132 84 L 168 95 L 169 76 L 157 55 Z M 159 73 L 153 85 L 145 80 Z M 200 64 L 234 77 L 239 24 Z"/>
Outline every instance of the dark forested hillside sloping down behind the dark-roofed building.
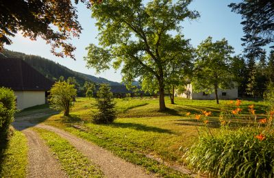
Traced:
<path fill-rule="evenodd" d="M 37 71 L 39 71 L 40 73 L 42 73 L 42 75 L 45 75 L 45 77 L 49 79 L 56 80 L 59 79 L 60 76 L 64 76 L 65 79 L 67 79 L 68 77 L 75 77 L 76 81 L 80 85 L 83 85 L 85 81 L 93 81 L 95 83 L 108 83 L 111 86 L 122 85 L 118 82 L 109 81 L 108 79 L 104 79 L 101 77 L 95 77 L 84 73 L 77 73 L 69 68 L 66 68 L 65 66 L 62 66 L 58 63 L 47 60 L 37 55 L 26 55 L 25 53 L 10 51 L 8 49 L 1 51 L 1 53 L 9 58 L 20 58 L 24 60 L 25 62 L 27 62 L 27 64 L 36 68 Z M 0 58 L 3 57 L 0 56 Z"/>

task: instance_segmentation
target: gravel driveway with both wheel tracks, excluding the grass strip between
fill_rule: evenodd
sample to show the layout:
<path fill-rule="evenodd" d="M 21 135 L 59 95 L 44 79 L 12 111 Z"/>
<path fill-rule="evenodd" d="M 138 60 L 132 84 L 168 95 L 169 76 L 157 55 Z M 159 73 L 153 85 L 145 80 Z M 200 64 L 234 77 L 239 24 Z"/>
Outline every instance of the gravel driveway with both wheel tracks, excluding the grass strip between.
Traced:
<path fill-rule="evenodd" d="M 126 162 L 110 151 L 106 151 L 82 138 L 77 138 L 71 133 L 49 125 L 29 123 L 28 121 L 30 120 L 20 119 L 12 125 L 19 131 L 23 131 L 28 140 L 29 166 L 27 172 L 29 177 L 65 177 L 60 165 L 53 159 L 45 143 L 34 131 L 28 129 L 29 127 L 38 127 L 58 133 L 59 136 L 68 140 L 73 147 L 88 157 L 91 162 L 100 166 L 105 177 L 155 177 L 145 173 L 145 170 L 140 166 Z"/>

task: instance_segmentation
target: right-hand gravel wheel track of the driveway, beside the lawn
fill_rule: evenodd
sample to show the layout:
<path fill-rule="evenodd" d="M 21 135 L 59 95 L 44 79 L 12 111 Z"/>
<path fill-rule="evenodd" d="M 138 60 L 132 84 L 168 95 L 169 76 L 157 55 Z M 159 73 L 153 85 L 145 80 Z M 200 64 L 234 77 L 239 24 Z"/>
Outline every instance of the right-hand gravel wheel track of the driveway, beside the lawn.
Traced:
<path fill-rule="evenodd" d="M 68 140 L 73 147 L 82 152 L 92 162 L 99 165 L 106 177 L 154 177 L 153 175 L 145 173 L 145 170 L 140 168 L 140 166 L 126 162 L 120 157 L 110 153 L 110 151 L 106 151 L 82 138 L 77 138 L 71 133 L 49 125 L 39 124 L 35 125 L 35 127 L 53 131 Z"/>

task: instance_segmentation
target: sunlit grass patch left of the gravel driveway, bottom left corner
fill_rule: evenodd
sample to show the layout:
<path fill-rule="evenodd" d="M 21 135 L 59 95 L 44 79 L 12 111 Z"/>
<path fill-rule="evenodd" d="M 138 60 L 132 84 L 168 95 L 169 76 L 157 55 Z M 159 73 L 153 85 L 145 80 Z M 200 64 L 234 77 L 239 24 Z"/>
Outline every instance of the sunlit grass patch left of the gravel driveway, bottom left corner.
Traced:
<path fill-rule="evenodd" d="M 0 177 L 25 177 L 27 139 L 12 129 L 8 140 L 0 140 Z"/>

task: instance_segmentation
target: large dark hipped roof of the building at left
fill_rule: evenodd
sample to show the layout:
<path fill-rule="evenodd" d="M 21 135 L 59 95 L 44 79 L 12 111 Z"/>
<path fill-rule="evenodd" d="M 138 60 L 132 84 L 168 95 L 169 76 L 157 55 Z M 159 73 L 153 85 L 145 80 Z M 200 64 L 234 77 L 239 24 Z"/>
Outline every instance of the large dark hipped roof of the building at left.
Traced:
<path fill-rule="evenodd" d="M 17 58 L 0 58 L 0 86 L 12 90 L 49 90 L 53 81 Z"/>

